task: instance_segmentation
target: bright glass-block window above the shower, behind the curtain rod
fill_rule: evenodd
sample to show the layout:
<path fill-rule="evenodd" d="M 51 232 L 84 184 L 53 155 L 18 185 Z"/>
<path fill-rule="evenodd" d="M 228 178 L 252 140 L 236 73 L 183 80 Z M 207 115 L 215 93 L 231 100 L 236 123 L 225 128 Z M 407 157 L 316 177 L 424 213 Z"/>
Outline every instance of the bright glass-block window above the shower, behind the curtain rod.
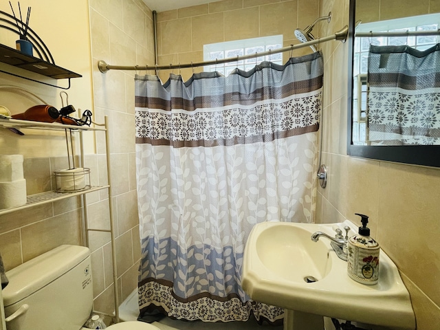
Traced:
<path fill-rule="evenodd" d="M 243 39 L 236 41 L 226 41 L 224 43 L 210 43 L 203 46 L 203 61 L 215 61 L 223 58 L 234 58 L 256 54 L 254 58 L 248 58 L 238 62 L 219 63 L 205 67 L 208 72 L 220 72 L 228 76 L 234 69 L 239 68 L 249 71 L 255 65 L 263 61 L 271 61 L 276 64 L 283 64 L 283 54 L 271 54 L 267 56 L 258 56 L 258 53 L 268 50 L 276 50 L 283 47 L 283 35 L 265 36 L 261 38 Z"/>

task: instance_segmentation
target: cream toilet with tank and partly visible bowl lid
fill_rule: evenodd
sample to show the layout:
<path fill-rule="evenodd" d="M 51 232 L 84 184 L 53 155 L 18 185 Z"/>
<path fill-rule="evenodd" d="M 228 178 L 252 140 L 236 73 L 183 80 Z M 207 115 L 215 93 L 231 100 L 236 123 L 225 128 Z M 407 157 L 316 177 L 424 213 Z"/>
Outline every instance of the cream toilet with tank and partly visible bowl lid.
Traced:
<path fill-rule="evenodd" d="M 6 272 L 3 289 L 8 330 L 85 330 L 91 316 L 93 285 L 90 252 L 77 245 L 54 250 Z M 111 325 L 109 330 L 159 330 L 145 322 Z"/>

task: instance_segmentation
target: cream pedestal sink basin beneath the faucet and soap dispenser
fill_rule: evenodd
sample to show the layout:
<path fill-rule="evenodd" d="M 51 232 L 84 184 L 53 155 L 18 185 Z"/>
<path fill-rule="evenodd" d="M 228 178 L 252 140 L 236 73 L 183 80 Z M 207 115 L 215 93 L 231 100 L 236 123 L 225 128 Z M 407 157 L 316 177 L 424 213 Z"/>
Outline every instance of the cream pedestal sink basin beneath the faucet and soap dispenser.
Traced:
<path fill-rule="evenodd" d="M 250 233 L 243 258 L 242 286 L 256 301 L 291 311 L 363 322 L 392 329 L 415 329 L 410 296 L 397 267 L 380 250 L 379 282 L 363 285 L 347 274 L 329 239 L 311 241 L 314 232 L 335 235 L 333 224 L 265 222 Z M 344 232 L 344 231 L 343 231 Z M 313 276 L 316 282 L 305 281 Z"/>

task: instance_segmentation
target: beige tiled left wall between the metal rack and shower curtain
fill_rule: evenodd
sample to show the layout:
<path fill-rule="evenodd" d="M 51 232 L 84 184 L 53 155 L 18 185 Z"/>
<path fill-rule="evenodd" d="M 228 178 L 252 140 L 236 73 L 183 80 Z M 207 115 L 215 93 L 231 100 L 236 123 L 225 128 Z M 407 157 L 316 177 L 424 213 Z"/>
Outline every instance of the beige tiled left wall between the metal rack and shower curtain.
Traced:
<path fill-rule="evenodd" d="M 90 0 L 91 57 L 96 119 L 109 118 L 111 193 L 116 230 L 120 302 L 137 287 L 140 261 L 135 169 L 134 71 L 102 74 L 98 61 L 113 65 L 154 63 L 153 16 L 142 0 Z M 139 72 L 138 72 L 139 73 Z M 105 161 L 104 136 L 97 135 L 98 168 Z M 100 194 L 89 212 L 98 228 L 107 226 L 107 201 Z M 113 311 L 113 278 L 109 234 L 91 236 L 95 309 Z"/>

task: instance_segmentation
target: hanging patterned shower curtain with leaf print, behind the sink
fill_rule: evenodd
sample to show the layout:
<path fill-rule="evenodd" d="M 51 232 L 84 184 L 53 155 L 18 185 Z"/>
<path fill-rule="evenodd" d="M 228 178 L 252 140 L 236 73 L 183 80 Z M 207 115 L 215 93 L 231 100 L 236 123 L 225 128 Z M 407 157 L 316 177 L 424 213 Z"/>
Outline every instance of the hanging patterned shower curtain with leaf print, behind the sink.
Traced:
<path fill-rule="evenodd" d="M 282 322 L 241 288 L 256 223 L 311 222 L 322 55 L 230 76 L 135 77 L 142 314 Z"/>

